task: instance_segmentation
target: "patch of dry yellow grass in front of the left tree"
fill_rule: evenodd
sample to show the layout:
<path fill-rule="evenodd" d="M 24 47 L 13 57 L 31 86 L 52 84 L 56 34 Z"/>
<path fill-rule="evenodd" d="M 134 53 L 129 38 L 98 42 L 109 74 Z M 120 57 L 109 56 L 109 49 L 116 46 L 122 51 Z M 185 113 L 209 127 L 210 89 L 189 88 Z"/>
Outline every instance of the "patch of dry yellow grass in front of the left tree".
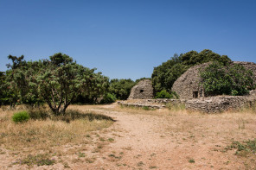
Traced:
<path fill-rule="evenodd" d="M 85 142 L 89 132 L 112 125 L 111 120 L 76 119 L 70 123 L 53 120 L 29 120 L 13 123 L 15 110 L 0 111 L 0 144 L 10 150 L 51 150 L 64 144 Z"/>

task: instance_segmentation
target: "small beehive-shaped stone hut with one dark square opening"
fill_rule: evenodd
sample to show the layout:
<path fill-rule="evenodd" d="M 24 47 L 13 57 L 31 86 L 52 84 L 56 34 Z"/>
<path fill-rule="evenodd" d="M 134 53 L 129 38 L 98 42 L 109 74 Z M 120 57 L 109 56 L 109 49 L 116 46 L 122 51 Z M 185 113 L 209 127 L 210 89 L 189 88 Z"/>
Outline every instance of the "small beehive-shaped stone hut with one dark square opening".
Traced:
<path fill-rule="evenodd" d="M 153 86 L 150 79 L 143 79 L 131 88 L 128 99 L 151 99 L 153 98 Z"/>

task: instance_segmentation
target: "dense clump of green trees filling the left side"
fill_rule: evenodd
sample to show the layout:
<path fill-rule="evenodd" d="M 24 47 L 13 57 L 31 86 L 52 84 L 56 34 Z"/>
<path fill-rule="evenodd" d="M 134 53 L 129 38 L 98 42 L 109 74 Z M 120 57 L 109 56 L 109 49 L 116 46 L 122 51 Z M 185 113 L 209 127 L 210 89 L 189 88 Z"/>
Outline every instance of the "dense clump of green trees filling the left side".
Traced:
<path fill-rule="evenodd" d="M 47 103 L 54 115 L 60 115 L 79 95 L 96 100 L 107 91 L 107 77 L 78 65 L 66 54 L 28 62 L 23 58 L 10 55 L 10 69 L 0 74 L 2 104 L 6 100 L 11 106 Z"/>

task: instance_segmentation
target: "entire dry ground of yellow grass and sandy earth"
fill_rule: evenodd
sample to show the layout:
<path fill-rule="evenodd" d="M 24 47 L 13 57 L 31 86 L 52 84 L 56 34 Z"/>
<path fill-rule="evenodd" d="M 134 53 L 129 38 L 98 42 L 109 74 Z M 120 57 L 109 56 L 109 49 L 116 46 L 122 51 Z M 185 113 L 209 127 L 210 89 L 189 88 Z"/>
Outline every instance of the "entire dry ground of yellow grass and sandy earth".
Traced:
<path fill-rule="evenodd" d="M 13 110 L 0 111 L 2 169 L 253 169 L 246 146 L 256 137 L 254 110 L 203 114 L 110 105 L 72 105 L 111 116 L 66 123 L 13 123 Z M 255 144 L 255 143 L 254 143 Z M 255 146 L 256 147 L 256 146 Z"/>

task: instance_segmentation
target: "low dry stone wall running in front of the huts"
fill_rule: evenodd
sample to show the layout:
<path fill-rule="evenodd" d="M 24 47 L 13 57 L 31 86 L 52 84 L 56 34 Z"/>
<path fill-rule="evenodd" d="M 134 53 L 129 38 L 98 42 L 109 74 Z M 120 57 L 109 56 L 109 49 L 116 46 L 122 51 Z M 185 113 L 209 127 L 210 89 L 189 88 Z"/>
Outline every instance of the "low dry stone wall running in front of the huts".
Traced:
<path fill-rule="evenodd" d="M 250 91 L 247 96 L 217 96 L 195 99 L 133 99 L 119 101 L 118 104 L 134 107 L 149 107 L 154 109 L 165 108 L 167 104 L 185 104 L 186 110 L 200 111 L 204 113 L 219 113 L 227 110 L 240 110 L 243 107 L 251 107 L 256 104 L 256 91 Z"/>

